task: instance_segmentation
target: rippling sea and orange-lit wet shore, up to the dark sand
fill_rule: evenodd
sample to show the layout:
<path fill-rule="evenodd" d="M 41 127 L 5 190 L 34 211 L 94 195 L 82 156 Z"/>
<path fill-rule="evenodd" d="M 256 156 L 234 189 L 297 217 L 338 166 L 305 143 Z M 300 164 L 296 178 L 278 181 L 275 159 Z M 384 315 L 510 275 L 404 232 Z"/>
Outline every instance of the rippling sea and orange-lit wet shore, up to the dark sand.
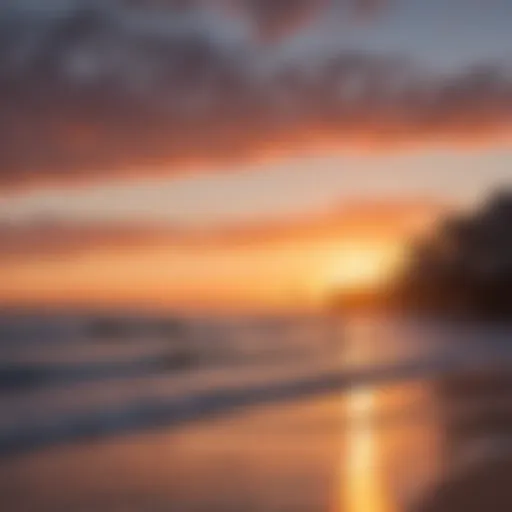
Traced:
<path fill-rule="evenodd" d="M 512 362 L 505 325 L 418 319 L 38 332 L 1 345 L 0 502 L 13 512 L 405 511 L 464 445 L 440 383 Z M 487 405 L 489 389 L 460 407 Z"/>

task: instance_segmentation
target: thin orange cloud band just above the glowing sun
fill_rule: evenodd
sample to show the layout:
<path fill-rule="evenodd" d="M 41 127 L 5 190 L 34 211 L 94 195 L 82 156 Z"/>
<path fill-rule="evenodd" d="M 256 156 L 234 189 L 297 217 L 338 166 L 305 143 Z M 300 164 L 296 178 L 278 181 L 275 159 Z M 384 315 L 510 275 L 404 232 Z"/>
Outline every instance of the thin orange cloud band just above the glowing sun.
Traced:
<path fill-rule="evenodd" d="M 0 224 L 0 265 L 75 258 L 102 250 L 164 248 L 172 254 L 314 246 L 322 241 L 405 237 L 423 229 L 447 206 L 424 198 L 348 203 L 304 216 L 210 229 L 166 223 L 65 222 L 38 219 Z M 206 256 L 205 256 L 206 257 Z"/>

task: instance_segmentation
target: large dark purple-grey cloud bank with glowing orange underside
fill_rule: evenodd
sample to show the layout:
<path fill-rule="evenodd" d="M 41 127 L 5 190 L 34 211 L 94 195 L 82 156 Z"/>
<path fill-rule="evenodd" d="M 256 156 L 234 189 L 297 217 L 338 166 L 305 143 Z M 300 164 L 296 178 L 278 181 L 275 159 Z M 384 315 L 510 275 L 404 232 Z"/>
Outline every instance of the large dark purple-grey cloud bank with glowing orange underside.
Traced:
<path fill-rule="evenodd" d="M 3 2 L 0 187 L 510 134 L 509 70 L 439 76 L 357 52 L 269 70 L 270 50 L 212 5 Z M 305 0 L 243 5 L 270 31 L 323 8 Z"/>

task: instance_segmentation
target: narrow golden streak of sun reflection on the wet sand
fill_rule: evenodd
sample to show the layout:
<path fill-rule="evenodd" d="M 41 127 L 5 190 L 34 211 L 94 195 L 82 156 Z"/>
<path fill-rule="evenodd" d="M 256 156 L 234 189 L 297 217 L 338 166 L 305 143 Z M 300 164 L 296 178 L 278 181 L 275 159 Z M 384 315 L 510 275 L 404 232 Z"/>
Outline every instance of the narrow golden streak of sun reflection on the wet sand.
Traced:
<path fill-rule="evenodd" d="M 371 388 L 354 389 L 344 402 L 347 437 L 338 512 L 392 512 L 379 467 L 379 439 L 372 424 L 376 402 Z"/>

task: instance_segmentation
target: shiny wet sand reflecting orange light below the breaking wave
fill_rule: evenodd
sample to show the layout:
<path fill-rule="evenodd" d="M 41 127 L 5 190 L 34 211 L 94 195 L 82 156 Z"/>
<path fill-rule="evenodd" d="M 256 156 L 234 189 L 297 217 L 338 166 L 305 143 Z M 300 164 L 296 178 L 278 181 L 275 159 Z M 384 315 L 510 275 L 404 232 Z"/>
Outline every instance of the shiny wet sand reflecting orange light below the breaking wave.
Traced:
<path fill-rule="evenodd" d="M 402 417 L 411 405 L 432 414 Z M 405 510 L 438 470 L 434 409 L 422 384 L 356 389 L 55 447 L 2 461 L 0 502 L 7 512 Z"/>

